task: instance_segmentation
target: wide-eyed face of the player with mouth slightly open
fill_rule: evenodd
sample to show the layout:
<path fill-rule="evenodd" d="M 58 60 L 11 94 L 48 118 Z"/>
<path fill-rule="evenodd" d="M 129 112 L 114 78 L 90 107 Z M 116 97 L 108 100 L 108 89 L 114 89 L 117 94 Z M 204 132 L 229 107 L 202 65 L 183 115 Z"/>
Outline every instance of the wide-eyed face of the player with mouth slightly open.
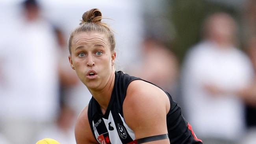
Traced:
<path fill-rule="evenodd" d="M 81 32 L 72 39 L 69 62 L 89 90 L 101 90 L 115 71 L 115 56 L 104 33 Z"/>

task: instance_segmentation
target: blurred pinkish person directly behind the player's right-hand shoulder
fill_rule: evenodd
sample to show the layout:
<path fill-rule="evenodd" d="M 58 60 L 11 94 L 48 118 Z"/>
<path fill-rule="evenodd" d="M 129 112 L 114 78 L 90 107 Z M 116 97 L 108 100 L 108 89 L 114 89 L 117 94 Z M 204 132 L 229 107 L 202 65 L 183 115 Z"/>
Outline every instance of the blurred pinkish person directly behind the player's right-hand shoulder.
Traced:
<path fill-rule="evenodd" d="M 132 67 L 129 73 L 173 94 L 178 76 L 178 61 L 175 55 L 162 42 L 154 38 L 145 39 L 142 54 L 141 62 Z"/>

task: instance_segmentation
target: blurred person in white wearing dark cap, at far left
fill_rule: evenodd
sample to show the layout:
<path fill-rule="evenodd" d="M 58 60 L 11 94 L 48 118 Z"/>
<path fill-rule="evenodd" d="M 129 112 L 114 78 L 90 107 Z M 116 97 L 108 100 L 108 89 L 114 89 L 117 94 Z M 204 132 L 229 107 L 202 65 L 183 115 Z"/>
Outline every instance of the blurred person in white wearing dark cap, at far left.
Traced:
<path fill-rule="evenodd" d="M 36 0 L 22 3 L 1 43 L 0 132 L 12 144 L 31 144 L 58 112 L 56 39 Z"/>

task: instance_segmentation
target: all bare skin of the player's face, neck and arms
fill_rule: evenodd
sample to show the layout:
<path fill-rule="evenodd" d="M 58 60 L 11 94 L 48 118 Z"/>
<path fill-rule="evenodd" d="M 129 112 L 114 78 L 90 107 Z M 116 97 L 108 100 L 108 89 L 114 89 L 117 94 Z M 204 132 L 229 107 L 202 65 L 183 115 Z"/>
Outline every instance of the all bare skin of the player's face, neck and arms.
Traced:
<path fill-rule="evenodd" d="M 102 114 L 106 113 L 114 87 L 115 56 L 116 53 L 111 51 L 104 33 L 74 34 L 69 56 L 70 65 L 100 105 Z M 166 114 L 169 109 L 169 98 L 160 88 L 140 80 L 129 84 L 123 103 L 123 114 L 126 124 L 134 131 L 136 139 L 168 133 Z M 77 144 L 98 143 L 90 129 L 87 111 L 88 105 L 79 114 L 76 122 Z M 147 142 L 147 144 L 169 143 L 169 139 Z"/>

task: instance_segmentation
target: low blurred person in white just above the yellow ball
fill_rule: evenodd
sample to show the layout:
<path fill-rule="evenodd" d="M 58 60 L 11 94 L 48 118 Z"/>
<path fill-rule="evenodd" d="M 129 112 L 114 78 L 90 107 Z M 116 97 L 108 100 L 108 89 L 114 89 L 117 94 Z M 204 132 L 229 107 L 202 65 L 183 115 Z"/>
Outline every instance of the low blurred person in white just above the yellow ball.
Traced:
<path fill-rule="evenodd" d="M 54 138 L 61 144 L 76 144 L 74 135 L 75 111 L 67 105 L 62 105 L 55 124 L 45 127 L 37 139 Z"/>

